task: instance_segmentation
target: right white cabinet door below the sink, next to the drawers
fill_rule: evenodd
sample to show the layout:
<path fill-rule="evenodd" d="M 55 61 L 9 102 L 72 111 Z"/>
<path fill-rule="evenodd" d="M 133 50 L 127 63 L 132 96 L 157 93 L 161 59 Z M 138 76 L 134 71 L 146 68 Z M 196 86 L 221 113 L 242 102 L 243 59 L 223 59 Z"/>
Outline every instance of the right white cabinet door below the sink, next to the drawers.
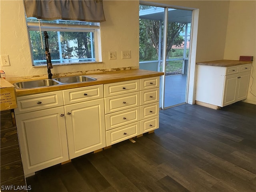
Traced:
<path fill-rule="evenodd" d="M 104 100 L 64 106 L 70 159 L 106 146 Z"/>

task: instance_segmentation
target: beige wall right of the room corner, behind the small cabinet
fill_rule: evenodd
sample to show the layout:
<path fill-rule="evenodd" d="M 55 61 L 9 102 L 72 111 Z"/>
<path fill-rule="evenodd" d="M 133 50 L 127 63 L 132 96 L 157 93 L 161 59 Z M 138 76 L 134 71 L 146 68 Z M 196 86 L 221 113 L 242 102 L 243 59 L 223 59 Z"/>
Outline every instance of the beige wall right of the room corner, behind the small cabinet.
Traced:
<path fill-rule="evenodd" d="M 230 1 L 224 59 L 254 56 L 248 97 L 256 104 L 256 1 Z"/>

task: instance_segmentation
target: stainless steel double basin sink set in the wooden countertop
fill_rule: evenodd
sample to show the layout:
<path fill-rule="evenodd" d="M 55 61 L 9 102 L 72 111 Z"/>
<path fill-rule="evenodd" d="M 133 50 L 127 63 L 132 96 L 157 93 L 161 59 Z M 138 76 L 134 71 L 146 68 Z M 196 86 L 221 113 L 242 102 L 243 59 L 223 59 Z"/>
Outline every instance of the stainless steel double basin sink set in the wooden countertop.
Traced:
<path fill-rule="evenodd" d="M 23 81 L 14 83 L 14 86 L 17 89 L 30 89 L 30 88 L 39 88 L 39 87 L 47 87 L 47 86 L 55 86 L 55 85 L 64 85 L 70 83 L 82 83 L 95 81 L 96 78 L 88 77 L 88 76 L 70 76 L 70 77 L 62 77 L 62 78 L 54 78 L 54 79 L 42 79 L 42 80 L 34 80 L 34 81 Z"/>

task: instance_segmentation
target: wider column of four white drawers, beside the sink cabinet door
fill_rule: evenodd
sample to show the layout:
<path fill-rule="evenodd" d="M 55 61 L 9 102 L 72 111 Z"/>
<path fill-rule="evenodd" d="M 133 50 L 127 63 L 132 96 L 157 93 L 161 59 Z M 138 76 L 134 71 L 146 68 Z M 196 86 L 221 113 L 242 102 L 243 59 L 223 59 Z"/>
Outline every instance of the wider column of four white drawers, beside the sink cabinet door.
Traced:
<path fill-rule="evenodd" d="M 106 146 L 140 134 L 140 80 L 104 85 Z"/>

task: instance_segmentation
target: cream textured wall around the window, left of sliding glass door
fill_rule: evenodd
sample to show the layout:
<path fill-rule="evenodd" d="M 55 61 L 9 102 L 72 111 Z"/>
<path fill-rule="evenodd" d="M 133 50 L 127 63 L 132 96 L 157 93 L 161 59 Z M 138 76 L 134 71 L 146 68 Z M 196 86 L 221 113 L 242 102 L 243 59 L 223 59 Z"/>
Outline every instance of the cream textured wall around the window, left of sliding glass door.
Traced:
<path fill-rule="evenodd" d="M 81 74 L 138 68 L 139 1 L 104 0 L 103 6 L 106 22 L 101 23 L 102 63 L 54 66 L 53 74 Z M 46 66 L 32 67 L 22 0 L 0 1 L 0 41 L 0 54 L 8 54 L 10 58 L 10 66 L 1 66 L 7 78 L 47 77 Z M 122 59 L 122 50 L 131 50 L 132 58 Z M 116 60 L 109 60 L 109 51 L 116 51 Z"/>

